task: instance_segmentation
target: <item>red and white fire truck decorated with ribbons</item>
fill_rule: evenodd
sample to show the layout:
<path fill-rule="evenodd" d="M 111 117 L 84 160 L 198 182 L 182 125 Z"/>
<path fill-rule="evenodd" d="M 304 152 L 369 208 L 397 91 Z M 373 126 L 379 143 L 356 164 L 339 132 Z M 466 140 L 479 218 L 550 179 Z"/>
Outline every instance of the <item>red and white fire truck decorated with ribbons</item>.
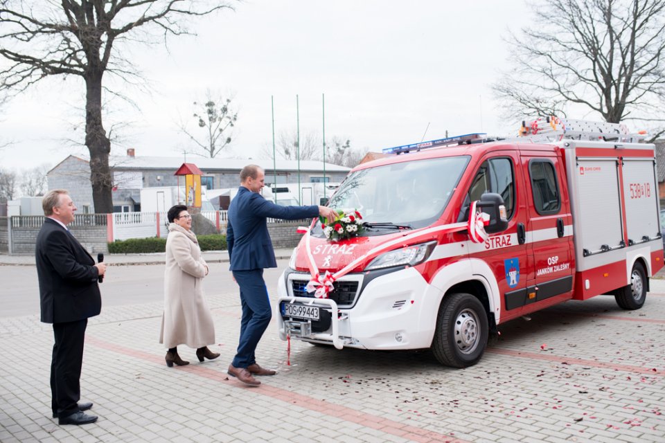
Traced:
<path fill-rule="evenodd" d="M 639 309 L 663 266 L 655 148 L 625 126 L 538 118 L 384 150 L 329 201 L 362 215 L 331 242 L 312 221 L 278 283 L 281 338 L 481 358 L 497 325 L 612 294 Z"/>

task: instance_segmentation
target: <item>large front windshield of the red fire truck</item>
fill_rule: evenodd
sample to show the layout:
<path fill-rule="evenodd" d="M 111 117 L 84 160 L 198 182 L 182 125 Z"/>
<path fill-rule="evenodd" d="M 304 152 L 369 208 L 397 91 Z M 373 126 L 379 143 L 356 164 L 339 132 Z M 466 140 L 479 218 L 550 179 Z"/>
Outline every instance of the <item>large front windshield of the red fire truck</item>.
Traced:
<path fill-rule="evenodd" d="M 406 161 L 353 172 L 328 206 L 355 208 L 368 224 L 423 228 L 441 216 L 469 159 Z"/>

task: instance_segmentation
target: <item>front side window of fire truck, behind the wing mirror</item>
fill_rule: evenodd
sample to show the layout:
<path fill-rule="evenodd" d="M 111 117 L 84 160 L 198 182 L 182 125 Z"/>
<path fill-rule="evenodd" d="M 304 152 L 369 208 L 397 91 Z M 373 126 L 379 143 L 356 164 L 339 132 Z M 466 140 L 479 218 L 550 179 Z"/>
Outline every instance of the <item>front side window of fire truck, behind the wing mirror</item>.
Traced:
<path fill-rule="evenodd" d="M 479 200 L 485 192 L 495 192 L 504 199 L 508 219 L 515 209 L 515 176 L 511 159 L 490 159 L 483 162 L 471 182 L 469 192 L 462 204 L 458 221 L 468 220 L 471 201 Z"/>

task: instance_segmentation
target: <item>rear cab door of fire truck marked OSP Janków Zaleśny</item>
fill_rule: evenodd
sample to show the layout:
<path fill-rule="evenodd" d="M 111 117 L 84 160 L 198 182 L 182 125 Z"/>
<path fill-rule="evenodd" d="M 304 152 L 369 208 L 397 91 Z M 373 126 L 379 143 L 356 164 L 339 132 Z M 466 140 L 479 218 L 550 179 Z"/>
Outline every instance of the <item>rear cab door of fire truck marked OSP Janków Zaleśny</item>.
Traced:
<path fill-rule="evenodd" d="M 526 224 L 533 282 L 524 314 L 571 298 L 574 273 L 572 216 L 562 182 L 562 161 L 553 156 L 522 156 L 529 221 Z"/>

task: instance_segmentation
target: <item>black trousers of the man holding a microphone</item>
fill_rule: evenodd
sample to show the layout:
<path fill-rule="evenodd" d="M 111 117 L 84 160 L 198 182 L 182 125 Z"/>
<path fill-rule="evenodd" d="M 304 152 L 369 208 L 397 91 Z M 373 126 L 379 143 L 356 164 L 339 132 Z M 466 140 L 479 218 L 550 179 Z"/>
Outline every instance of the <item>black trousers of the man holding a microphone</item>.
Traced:
<path fill-rule="evenodd" d="M 69 323 L 53 323 L 55 344 L 51 359 L 51 408 L 61 418 L 78 412 L 83 341 L 87 325 L 87 318 Z"/>

